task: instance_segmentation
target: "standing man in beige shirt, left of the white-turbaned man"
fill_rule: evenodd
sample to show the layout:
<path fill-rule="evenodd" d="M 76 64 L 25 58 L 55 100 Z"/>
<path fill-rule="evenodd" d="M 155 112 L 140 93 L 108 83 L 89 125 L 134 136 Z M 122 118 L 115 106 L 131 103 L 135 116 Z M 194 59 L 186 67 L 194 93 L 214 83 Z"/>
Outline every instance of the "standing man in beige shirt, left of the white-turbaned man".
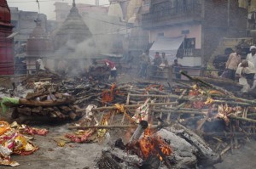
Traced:
<path fill-rule="evenodd" d="M 235 81 L 236 69 L 238 64 L 241 63 L 241 47 L 236 47 L 236 53 L 230 54 L 226 62 L 227 78 Z"/>

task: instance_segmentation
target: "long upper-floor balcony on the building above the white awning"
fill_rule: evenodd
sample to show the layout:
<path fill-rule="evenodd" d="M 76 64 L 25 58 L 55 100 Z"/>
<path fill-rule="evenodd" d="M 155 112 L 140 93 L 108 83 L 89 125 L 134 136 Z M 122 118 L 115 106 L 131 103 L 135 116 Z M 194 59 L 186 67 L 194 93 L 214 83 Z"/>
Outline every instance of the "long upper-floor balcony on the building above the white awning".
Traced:
<path fill-rule="evenodd" d="M 186 6 L 143 14 L 142 25 L 144 29 L 152 29 L 194 21 L 201 22 L 200 3 L 191 3 Z"/>

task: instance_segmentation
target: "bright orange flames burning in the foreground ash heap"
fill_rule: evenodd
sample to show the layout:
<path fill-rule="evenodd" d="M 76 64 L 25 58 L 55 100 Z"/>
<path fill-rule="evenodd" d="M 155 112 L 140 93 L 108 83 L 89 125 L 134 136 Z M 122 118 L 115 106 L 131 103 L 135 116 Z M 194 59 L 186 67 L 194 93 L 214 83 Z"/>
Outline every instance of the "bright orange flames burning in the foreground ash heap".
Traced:
<path fill-rule="evenodd" d="M 172 149 L 160 136 L 155 136 L 152 131 L 147 128 L 144 137 L 139 140 L 139 146 L 143 154 L 143 159 L 147 159 L 149 155 L 158 155 L 160 161 L 168 155 L 172 155 Z"/>

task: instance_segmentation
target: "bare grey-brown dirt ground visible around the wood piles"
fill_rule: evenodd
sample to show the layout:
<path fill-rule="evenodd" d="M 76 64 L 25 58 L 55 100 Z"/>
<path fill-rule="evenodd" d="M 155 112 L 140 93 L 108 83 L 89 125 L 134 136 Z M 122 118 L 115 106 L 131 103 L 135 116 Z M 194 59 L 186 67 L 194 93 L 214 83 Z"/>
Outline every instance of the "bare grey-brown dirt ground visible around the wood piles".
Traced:
<path fill-rule="evenodd" d="M 118 81 L 130 82 L 135 80 L 131 76 L 120 75 Z M 1 117 L 1 115 L 0 115 Z M 2 115 L 2 119 L 8 119 L 9 115 Z M 101 156 L 104 143 L 98 144 L 66 144 L 60 147 L 54 141 L 70 132 L 67 127 L 69 124 L 55 125 L 55 126 L 36 126 L 49 129 L 46 136 L 35 136 L 32 141 L 39 147 L 38 151 L 32 155 L 20 156 L 12 155 L 12 160 L 20 163 L 15 169 L 52 169 L 52 168 L 67 168 L 67 169 L 93 169 L 97 157 Z M 125 132 L 110 132 L 110 136 L 114 138 L 124 137 Z M 213 167 L 217 169 L 252 169 L 256 166 L 256 143 L 251 141 L 242 145 L 240 149 L 234 149 L 233 154 L 230 151 L 223 156 L 224 161 Z M 0 166 L 0 168 L 12 168 L 11 166 Z"/>

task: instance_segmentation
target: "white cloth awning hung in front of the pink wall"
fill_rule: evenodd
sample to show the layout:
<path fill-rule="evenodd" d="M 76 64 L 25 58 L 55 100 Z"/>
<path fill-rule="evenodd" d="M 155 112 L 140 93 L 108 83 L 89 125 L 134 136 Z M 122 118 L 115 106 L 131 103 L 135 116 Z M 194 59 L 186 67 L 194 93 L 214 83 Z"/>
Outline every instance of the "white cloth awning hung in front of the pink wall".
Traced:
<path fill-rule="evenodd" d="M 166 53 L 166 59 L 171 65 L 176 59 L 177 49 L 180 47 L 184 37 L 158 37 L 149 49 L 150 59 L 154 59 L 155 52 Z"/>

